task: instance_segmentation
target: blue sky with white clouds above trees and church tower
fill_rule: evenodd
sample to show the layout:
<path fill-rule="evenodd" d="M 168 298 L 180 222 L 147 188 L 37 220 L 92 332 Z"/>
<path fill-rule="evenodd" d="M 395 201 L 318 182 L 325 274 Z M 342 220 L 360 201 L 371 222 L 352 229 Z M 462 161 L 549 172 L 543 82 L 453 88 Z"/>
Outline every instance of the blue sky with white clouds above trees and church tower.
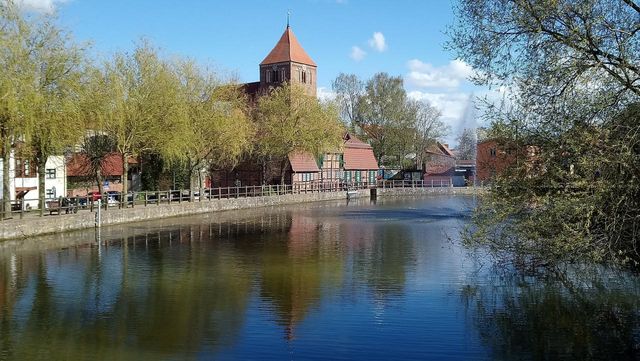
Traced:
<path fill-rule="evenodd" d="M 1 0 L 0 0 L 1 1 Z M 454 144 L 475 126 L 469 99 L 489 91 L 472 85 L 473 69 L 444 49 L 455 0 L 15 0 L 28 11 L 57 13 L 59 24 L 91 54 L 129 51 L 150 40 L 178 55 L 258 80 L 258 64 L 286 27 L 318 64 L 318 94 L 331 97 L 339 73 L 368 79 L 402 76 L 412 98 L 427 101 L 450 125 Z"/>

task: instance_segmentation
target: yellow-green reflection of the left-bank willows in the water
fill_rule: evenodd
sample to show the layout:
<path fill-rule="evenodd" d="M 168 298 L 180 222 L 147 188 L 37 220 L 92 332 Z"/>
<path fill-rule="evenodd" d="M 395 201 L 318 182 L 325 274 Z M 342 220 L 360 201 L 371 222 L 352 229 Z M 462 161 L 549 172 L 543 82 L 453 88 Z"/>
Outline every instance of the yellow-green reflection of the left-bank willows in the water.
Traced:
<path fill-rule="evenodd" d="M 143 237 L 136 241 L 142 244 L 40 256 L 37 272 L 18 276 L 32 282 L 18 284 L 11 305 L 0 307 L 0 358 L 188 359 L 233 342 L 250 294 L 249 272 L 201 227 L 153 235 L 159 242 Z M 169 234 L 178 240 L 172 246 Z M 4 299 L 6 274 L 0 276 Z M 17 305 L 26 317 L 18 317 Z"/>

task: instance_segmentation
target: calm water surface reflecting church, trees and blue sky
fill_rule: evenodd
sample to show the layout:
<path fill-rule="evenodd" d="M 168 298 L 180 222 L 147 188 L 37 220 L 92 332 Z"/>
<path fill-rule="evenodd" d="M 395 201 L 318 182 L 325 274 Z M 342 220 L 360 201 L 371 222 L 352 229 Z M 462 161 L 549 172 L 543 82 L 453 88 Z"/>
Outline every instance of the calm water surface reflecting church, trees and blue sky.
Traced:
<path fill-rule="evenodd" d="M 459 244 L 475 200 L 224 212 L 0 247 L 0 360 L 640 357 L 640 281 L 525 277 Z"/>

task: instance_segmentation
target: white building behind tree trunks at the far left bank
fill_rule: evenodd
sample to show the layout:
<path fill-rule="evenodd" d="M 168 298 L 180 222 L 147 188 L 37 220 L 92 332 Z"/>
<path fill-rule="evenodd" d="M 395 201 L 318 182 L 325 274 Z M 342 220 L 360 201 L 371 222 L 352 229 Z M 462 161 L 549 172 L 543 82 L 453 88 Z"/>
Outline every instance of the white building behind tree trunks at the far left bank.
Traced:
<path fill-rule="evenodd" d="M 0 199 L 2 199 L 3 159 L 0 159 Z M 45 197 L 57 198 L 67 195 L 67 169 L 64 157 L 51 156 L 45 166 Z M 24 210 L 38 208 L 38 170 L 35 164 L 26 159 L 9 158 L 10 198 L 12 201 L 24 199 Z"/>

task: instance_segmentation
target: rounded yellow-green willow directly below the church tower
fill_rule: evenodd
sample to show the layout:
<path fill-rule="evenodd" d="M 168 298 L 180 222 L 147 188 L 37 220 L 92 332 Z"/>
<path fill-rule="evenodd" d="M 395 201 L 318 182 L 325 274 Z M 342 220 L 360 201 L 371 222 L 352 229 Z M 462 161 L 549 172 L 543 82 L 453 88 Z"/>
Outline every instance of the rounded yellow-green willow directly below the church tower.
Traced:
<path fill-rule="evenodd" d="M 340 147 L 344 130 L 337 110 L 305 94 L 297 85 L 284 84 L 260 98 L 257 107 L 258 154 L 281 162 L 284 184 L 288 155 L 319 155 Z"/>

